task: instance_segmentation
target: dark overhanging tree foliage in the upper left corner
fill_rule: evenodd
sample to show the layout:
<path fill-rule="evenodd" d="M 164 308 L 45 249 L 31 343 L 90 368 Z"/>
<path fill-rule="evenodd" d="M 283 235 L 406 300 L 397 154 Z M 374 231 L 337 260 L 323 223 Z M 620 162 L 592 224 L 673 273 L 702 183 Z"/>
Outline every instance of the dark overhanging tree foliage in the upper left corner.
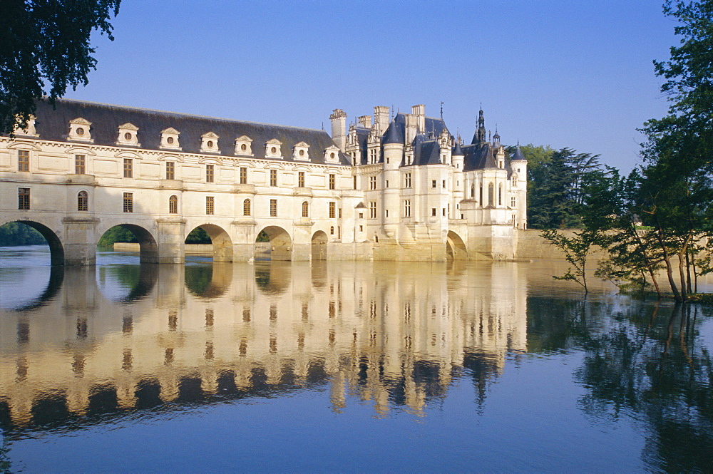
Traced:
<path fill-rule="evenodd" d="M 96 69 L 93 30 L 113 41 L 121 0 L 3 0 L 0 14 L 0 133 L 25 128 L 35 102 L 86 86 Z"/>

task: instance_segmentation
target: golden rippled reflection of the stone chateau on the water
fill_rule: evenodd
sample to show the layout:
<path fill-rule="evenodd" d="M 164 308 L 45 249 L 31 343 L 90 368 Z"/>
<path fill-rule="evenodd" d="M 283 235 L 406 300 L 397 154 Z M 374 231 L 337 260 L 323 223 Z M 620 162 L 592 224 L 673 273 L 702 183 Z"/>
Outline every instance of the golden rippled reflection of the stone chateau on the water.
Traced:
<path fill-rule="evenodd" d="M 420 415 L 471 377 L 476 401 L 527 350 L 517 264 L 259 262 L 67 267 L 0 310 L 0 423 L 46 428 L 175 403 L 323 387 Z M 118 295 L 118 296 L 117 296 Z"/>

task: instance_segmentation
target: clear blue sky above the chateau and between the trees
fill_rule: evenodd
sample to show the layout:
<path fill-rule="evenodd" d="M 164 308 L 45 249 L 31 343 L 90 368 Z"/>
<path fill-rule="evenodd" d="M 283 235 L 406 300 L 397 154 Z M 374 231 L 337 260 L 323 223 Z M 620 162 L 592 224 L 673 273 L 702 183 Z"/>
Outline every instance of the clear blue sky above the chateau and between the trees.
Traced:
<path fill-rule="evenodd" d="M 503 143 L 625 170 L 668 107 L 652 60 L 678 41 L 657 0 L 123 0 L 113 25 L 68 98 L 327 130 L 334 108 L 443 101 L 468 142 L 483 103 Z"/>

